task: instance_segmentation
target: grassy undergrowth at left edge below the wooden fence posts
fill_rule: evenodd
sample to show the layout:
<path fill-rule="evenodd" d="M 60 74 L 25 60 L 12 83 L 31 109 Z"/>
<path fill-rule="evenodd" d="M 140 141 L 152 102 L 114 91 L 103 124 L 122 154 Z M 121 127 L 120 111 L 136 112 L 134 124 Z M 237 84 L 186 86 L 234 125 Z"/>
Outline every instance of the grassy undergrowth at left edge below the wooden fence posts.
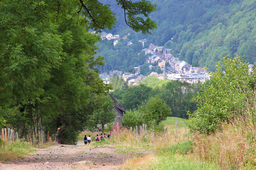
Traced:
<path fill-rule="evenodd" d="M 0 139 L 0 162 L 5 162 L 8 160 L 15 160 L 22 158 L 23 156 L 36 151 L 28 142 L 23 139 L 17 142 L 3 142 Z"/>

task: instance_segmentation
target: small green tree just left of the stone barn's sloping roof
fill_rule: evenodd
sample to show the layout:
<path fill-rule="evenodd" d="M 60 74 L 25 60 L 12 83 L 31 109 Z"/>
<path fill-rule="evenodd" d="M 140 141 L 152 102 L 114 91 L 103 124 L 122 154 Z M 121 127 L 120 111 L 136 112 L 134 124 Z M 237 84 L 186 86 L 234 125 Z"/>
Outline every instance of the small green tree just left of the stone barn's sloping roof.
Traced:
<path fill-rule="evenodd" d="M 104 133 L 104 125 L 114 121 L 116 114 L 113 111 L 114 103 L 111 97 L 102 98 L 102 104 L 99 109 L 95 110 L 89 122 L 89 128 L 92 130 L 98 129 Z"/>

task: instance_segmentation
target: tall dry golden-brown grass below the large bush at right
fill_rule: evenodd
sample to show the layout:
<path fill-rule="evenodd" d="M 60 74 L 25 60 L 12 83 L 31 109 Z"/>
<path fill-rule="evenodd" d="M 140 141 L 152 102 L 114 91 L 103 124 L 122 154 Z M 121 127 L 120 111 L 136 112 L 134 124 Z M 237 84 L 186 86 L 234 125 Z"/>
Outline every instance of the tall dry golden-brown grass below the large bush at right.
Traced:
<path fill-rule="evenodd" d="M 211 135 L 195 132 L 192 136 L 194 154 L 200 160 L 215 162 L 222 169 L 248 169 L 255 155 L 254 149 L 250 148 L 255 144 L 250 142 L 250 132 L 241 122 L 235 119 L 232 123 L 222 124 L 222 130 Z"/>

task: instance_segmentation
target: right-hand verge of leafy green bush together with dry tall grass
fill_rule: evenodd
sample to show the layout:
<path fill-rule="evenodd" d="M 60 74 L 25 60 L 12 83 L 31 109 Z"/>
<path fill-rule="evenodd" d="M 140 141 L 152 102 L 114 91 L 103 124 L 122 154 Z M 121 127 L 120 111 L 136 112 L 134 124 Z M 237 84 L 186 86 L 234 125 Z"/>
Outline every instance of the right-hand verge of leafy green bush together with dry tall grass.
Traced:
<path fill-rule="evenodd" d="M 225 170 L 256 169 L 256 67 L 223 57 L 188 113 L 194 155 Z"/>

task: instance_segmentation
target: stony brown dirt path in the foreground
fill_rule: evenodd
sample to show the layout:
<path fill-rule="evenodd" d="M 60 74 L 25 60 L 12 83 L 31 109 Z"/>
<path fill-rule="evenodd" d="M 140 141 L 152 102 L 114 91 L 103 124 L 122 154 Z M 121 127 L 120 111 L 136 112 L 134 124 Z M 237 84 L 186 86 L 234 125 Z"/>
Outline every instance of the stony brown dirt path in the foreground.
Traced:
<path fill-rule="evenodd" d="M 114 148 L 82 148 L 78 145 L 53 145 L 37 149 L 31 155 L 8 163 L 0 163 L 0 170 L 113 170 L 121 166 L 126 154 Z M 85 161 L 78 163 L 80 161 Z"/>

